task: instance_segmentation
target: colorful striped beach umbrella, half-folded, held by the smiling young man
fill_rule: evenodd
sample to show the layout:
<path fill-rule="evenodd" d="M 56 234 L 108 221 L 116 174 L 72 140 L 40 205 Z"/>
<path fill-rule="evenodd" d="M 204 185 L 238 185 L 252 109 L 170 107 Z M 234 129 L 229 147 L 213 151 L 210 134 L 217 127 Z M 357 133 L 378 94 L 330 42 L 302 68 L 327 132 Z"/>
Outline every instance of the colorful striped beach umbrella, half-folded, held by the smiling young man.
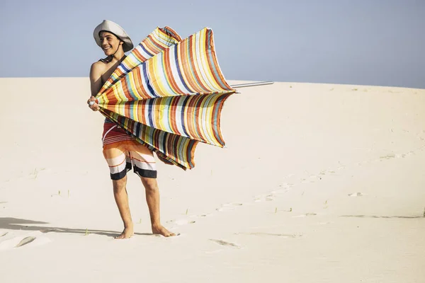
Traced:
<path fill-rule="evenodd" d="M 220 71 L 210 28 L 181 40 L 165 27 L 132 50 L 96 100 L 103 115 L 186 170 L 195 166 L 199 141 L 225 146 L 220 113 L 234 92 Z"/>

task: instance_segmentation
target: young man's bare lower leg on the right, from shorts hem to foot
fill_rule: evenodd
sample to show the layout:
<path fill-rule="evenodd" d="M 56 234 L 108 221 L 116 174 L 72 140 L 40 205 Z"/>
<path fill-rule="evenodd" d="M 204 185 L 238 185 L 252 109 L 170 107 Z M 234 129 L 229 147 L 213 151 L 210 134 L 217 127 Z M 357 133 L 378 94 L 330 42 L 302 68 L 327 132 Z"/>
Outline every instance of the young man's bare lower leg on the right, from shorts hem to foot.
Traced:
<path fill-rule="evenodd" d="M 145 177 L 140 178 L 142 179 L 142 183 L 146 191 L 146 202 L 147 207 L 149 207 L 152 233 L 160 234 L 165 237 L 176 236 L 175 233 L 171 233 L 161 224 L 159 217 L 159 188 L 157 179 Z"/>

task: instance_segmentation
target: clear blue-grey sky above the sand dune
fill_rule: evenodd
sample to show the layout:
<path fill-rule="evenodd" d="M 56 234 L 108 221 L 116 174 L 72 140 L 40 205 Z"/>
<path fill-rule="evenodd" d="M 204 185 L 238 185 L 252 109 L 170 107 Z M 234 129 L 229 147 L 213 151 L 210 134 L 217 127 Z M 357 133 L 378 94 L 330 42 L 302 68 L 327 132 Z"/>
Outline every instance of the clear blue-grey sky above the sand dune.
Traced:
<path fill-rule="evenodd" d="M 208 26 L 229 80 L 425 88 L 425 0 L 0 0 L 0 77 L 82 77 L 103 19 L 137 45 Z"/>

